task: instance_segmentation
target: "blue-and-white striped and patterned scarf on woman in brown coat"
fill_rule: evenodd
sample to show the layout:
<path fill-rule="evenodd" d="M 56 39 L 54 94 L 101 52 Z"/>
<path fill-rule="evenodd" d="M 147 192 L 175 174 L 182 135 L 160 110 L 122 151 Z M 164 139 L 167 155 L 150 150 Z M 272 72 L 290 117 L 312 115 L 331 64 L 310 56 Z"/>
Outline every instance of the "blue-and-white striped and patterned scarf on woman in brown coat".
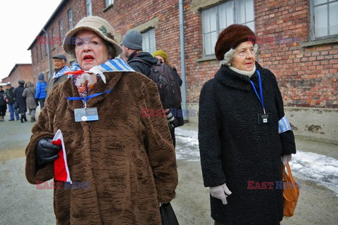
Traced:
<path fill-rule="evenodd" d="M 81 70 L 79 63 L 75 61 L 65 75 L 71 77 L 73 84 L 77 87 L 81 97 L 86 97 L 94 89 L 99 79 L 106 84 L 104 72 L 134 72 L 125 60 L 116 58 L 106 61 L 101 65 L 96 65 L 90 70 Z"/>

